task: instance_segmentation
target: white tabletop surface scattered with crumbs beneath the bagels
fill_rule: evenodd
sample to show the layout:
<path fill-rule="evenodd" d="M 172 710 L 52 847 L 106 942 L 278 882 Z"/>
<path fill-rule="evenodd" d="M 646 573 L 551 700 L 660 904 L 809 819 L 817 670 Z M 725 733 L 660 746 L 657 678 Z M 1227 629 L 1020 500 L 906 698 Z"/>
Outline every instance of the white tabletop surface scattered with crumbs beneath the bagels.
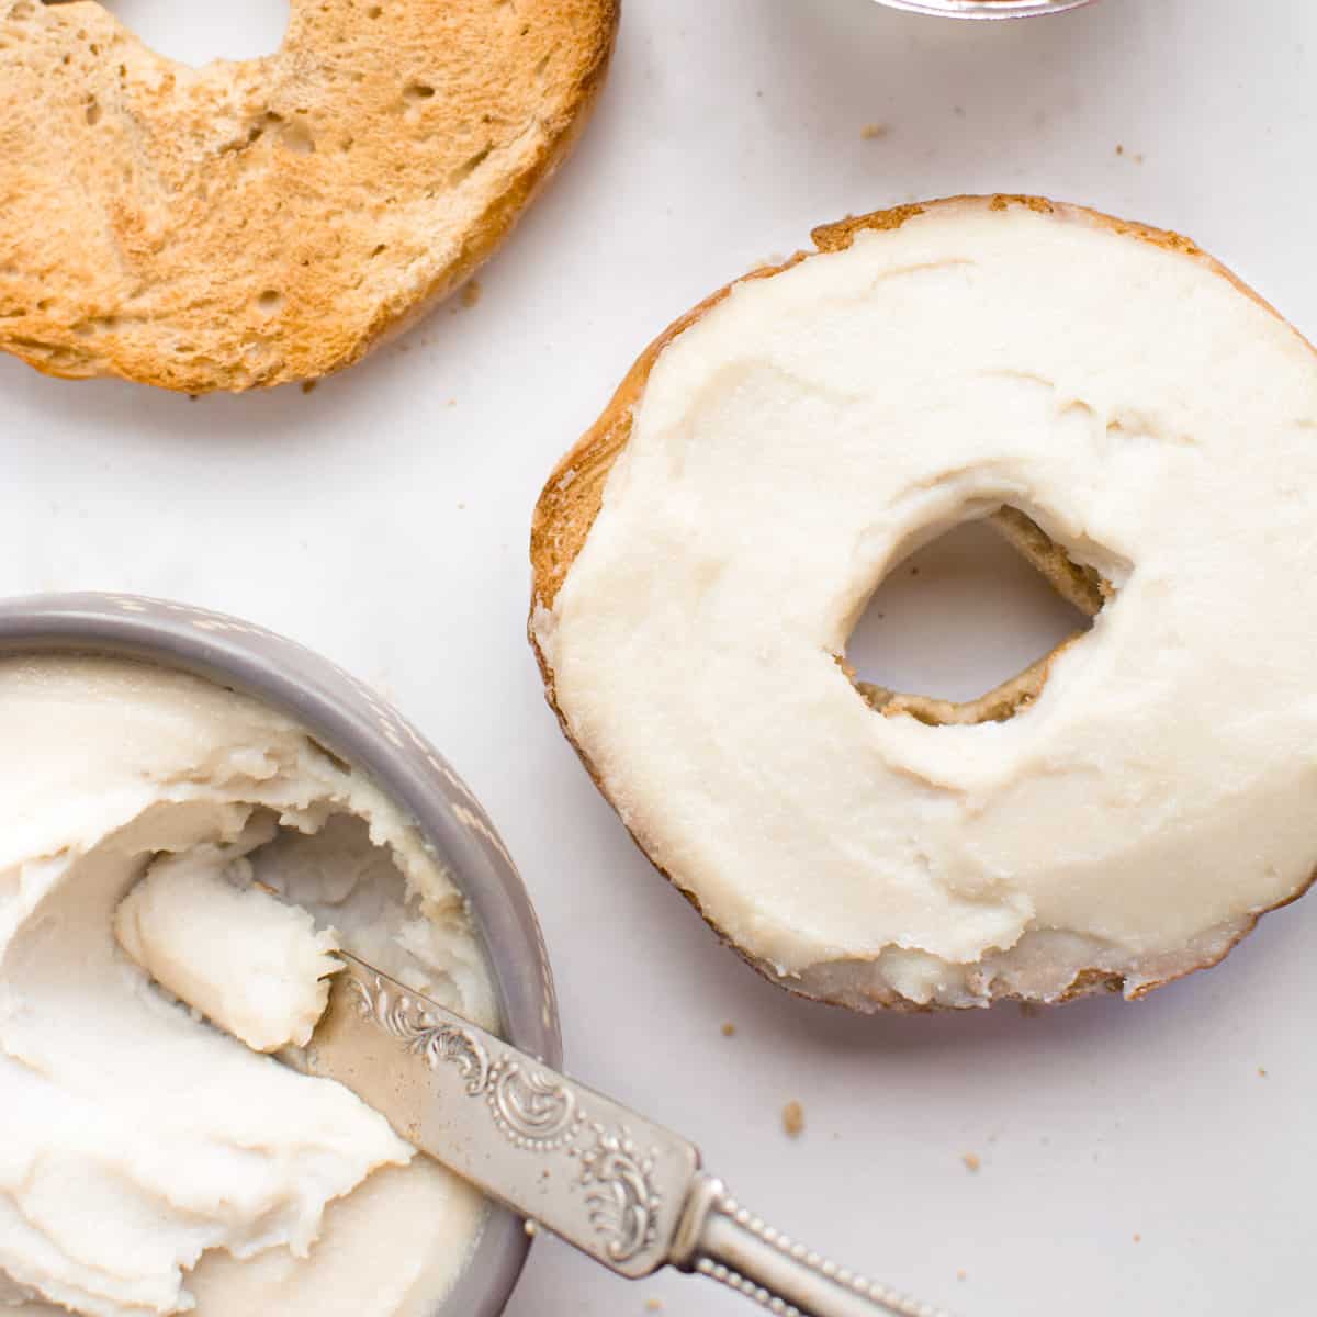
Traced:
<path fill-rule="evenodd" d="M 121 8 L 173 24 L 184 54 L 219 49 L 199 7 Z M 1191 233 L 1317 335 L 1317 7 L 1098 0 L 1018 24 L 871 0 L 626 8 L 597 121 L 474 308 L 309 395 L 188 402 L 0 361 L 0 591 L 173 595 L 379 684 L 520 859 L 573 1068 L 699 1139 L 784 1229 L 965 1317 L 1308 1310 L 1317 898 L 1138 1006 L 859 1019 L 793 1001 L 635 852 L 523 628 L 529 512 L 558 454 L 652 335 L 814 223 L 1042 191 Z M 215 9 L 230 36 L 267 22 L 258 0 Z M 1026 573 L 998 587 L 1014 635 L 993 607 L 994 635 L 948 635 L 934 591 L 959 578 L 982 601 L 975 573 L 996 572 L 972 536 L 960 548 L 902 578 L 867 639 L 894 678 L 946 694 L 1060 622 Z M 923 618 L 922 658 L 893 636 L 901 607 Z M 640 1317 L 651 1297 L 749 1310 L 684 1277 L 627 1287 L 545 1242 L 510 1313 Z"/>

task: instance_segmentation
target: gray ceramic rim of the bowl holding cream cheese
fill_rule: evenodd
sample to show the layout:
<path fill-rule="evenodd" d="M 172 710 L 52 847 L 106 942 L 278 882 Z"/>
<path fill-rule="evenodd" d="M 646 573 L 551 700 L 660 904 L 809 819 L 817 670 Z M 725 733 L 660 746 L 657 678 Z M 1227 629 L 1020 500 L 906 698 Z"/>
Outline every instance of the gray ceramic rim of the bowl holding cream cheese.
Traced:
<path fill-rule="evenodd" d="M 298 719 L 373 777 L 444 857 L 470 902 L 510 1042 L 562 1065 L 557 998 L 531 900 L 494 824 L 444 759 L 353 677 L 282 636 L 220 614 L 132 595 L 0 601 L 0 656 L 83 652 L 180 668 Z M 495 1209 L 436 1317 L 497 1317 L 529 1239 Z"/>

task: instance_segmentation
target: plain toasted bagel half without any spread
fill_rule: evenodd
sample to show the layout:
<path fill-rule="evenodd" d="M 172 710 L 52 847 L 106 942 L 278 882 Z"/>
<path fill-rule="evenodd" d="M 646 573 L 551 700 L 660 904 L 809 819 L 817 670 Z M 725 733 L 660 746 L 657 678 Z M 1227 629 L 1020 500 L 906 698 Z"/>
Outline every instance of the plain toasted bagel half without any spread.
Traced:
<path fill-rule="evenodd" d="M 0 0 L 0 348 L 203 392 L 357 361 L 564 158 L 618 0 L 290 0 L 192 68 L 96 0 Z"/>

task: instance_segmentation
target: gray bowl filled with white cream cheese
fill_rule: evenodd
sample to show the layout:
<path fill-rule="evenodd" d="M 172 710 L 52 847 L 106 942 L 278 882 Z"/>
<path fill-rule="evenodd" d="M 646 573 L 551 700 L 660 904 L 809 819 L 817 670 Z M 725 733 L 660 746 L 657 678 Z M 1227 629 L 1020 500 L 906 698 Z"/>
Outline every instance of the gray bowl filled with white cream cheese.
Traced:
<path fill-rule="evenodd" d="M 502 1312 L 520 1220 L 265 1055 L 259 994 L 250 1046 L 173 998 L 125 928 L 165 893 L 167 956 L 190 884 L 259 884 L 558 1067 L 533 909 L 445 760 L 290 640 L 94 594 L 0 602 L 0 1310 Z"/>

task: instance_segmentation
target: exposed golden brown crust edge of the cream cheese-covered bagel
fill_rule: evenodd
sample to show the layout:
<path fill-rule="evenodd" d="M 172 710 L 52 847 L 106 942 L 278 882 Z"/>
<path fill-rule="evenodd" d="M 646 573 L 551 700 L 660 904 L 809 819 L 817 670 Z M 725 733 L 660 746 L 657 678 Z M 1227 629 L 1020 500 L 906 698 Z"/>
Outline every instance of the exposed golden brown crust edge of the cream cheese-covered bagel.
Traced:
<path fill-rule="evenodd" d="M 801 261 L 807 261 L 811 255 L 818 253 L 844 250 L 855 240 L 855 234 L 861 230 L 896 229 L 914 216 L 923 215 L 931 209 L 965 207 L 1005 211 L 1011 205 L 1023 205 L 1039 213 L 1058 215 L 1069 221 L 1108 228 L 1115 233 L 1138 237 L 1146 242 L 1154 244 L 1155 246 L 1177 252 L 1181 255 L 1200 261 L 1214 274 L 1229 279 L 1234 287 L 1247 294 L 1277 319 L 1281 319 L 1274 307 L 1259 298 L 1256 292 L 1241 282 L 1230 270 L 1204 253 L 1192 241 L 1177 233 L 1151 228 L 1144 224 L 1118 220 L 1085 207 L 1051 202 L 1039 196 L 1017 196 L 1009 194 L 997 194 L 993 196 L 944 198 L 942 200 L 921 204 L 900 205 L 893 209 L 876 212 L 873 215 L 848 216 L 836 224 L 820 225 L 811 233 L 817 252 L 798 252 L 781 265 L 753 270 L 743 279 L 738 279 L 706 298 L 686 315 L 673 321 L 673 324 L 670 324 L 641 353 L 636 363 L 623 379 L 618 391 L 612 395 L 612 399 L 599 419 L 589 431 L 586 431 L 566 457 L 558 462 L 553 474 L 549 477 L 548 483 L 544 486 L 543 493 L 540 494 L 532 519 L 532 594 L 528 628 L 531 648 L 535 652 L 540 674 L 544 680 L 545 698 L 548 699 L 551 709 L 554 711 L 564 735 L 576 749 L 581 763 L 586 768 L 586 772 L 589 772 L 605 799 L 610 799 L 608 792 L 606 790 L 599 773 L 590 763 L 589 755 L 572 735 L 566 716 L 558 706 L 554 690 L 553 669 L 551 668 L 548 658 L 536 639 L 535 616 L 541 608 L 552 608 L 553 601 L 557 597 L 572 564 L 576 561 L 577 554 L 585 545 L 590 528 L 599 514 L 599 507 L 603 500 L 603 487 L 608 478 L 608 471 L 611 470 L 614 461 L 616 461 L 618 454 L 623 450 L 623 448 L 626 448 L 631 436 L 632 411 L 635 404 L 644 392 L 649 373 L 658 357 L 662 354 L 664 349 L 678 335 L 705 316 L 712 307 L 718 306 L 718 303 L 722 302 L 739 283 L 743 283 L 747 279 L 772 278 L 781 274 L 784 270 L 789 270 L 792 266 L 798 265 Z M 1004 514 L 1005 515 L 998 515 L 996 518 L 996 525 L 1008 541 L 1011 543 L 1013 547 L 1015 547 L 1043 573 L 1043 576 L 1051 582 L 1058 593 L 1062 594 L 1063 598 L 1069 599 L 1069 602 L 1072 602 L 1081 611 L 1090 615 L 1094 614 L 1101 607 L 1101 603 L 1105 602 L 1105 598 L 1110 591 L 1110 586 L 1105 581 L 1101 581 L 1101 578 L 1096 577 L 1096 574 L 1071 562 L 1064 551 L 1062 551 L 1059 545 L 1054 544 L 1042 528 L 1029 518 L 1014 512 L 1014 510 L 1010 508 L 1004 510 Z M 1015 709 L 1027 703 L 1033 698 L 1036 698 L 1038 691 L 1046 681 L 1047 670 L 1052 661 L 1063 649 L 1073 643 L 1073 639 L 1076 637 L 1063 641 L 1056 647 L 1056 649 L 1052 651 L 1052 653 L 1047 655 L 1038 664 L 1034 664 L 1018 677 L 1005 682 L 997 690 L 989 691 L 989 694 L 981 697 L 980 699 L 964 705 L 951 705 L 944 701 L 932 701 L 919 695 L 896 695 L 894 693 L 881 690 L 880 687 L 871 686 L 865 689 L 865 684 L 857 684 L 857 689 L 871 706 L 882 712 L 910 712 L 914 716 L 919 716 L 931 723 L 984 722 L 990 718 L 1010 716 Z M 838 661 L 846 666 L 842 658 Z M 851 673 L 851 676 L 853 680 L 853 673 Z M 664 869 L 662 865 L 657 864 L 653 857 L 648 855 L 644 843 L 635 835 L 635 832 L 631 832 L 631 838 L 641 852 L 647 855 L 651 864 L 653 864 L 655 868 L 658 869 L 658 872 L 695 907 L 718 939 L 724 946 L 735 951 L 738 956 L 751 965 L 751 968 L 763 975 L 770 982 L 777 984 L 777 986 L 785 988 L 788 992 L 797 996 L 809 997 L 811 1000 L 859 1011 L 882 1009 L 922 1014 L 930 1010 L 943 1009 L 936 1005 L 922 1006 L 915 1002 L 910 1002 L 892 990 L 874 992 L 872 988 L 861 985 L 848 986 L 842 992 L 831 989 L 820 990 L 806 985 L 806 982 L 801 979 L 786 977 L 777 973 L 772 965 L 748 952 L 744 947 L 734 942 L 722 928 L 719 928 L 702 909 L 699 898 L 695 893 L 685 889 L 672 873 Z M 1299 897 L 1303 896 L 1314 881 L 1317 881 L 1317 871 L 1314 871 L 1313 876 L 1309 877 L 1308 882 L 1300 892 L 1288 897 L 1285 901 L 1279 902 L 1272 909 L 1280 909 L 1281 906 L 1299 900 Z M 1201 963 L 1188 965 L 1183 971 L 1177 971 L 1175 973 L 1168 973 L 1164 979 L 1156 982 L 1142 984 L 1137 989 L 1131 990 L 1130 996 L 1144 997 L 1154 989 L 1172 982 L 1175 979 L 1180 979 L 1197 969 L 1206 969 L 1218 964 L 1245 936 L 1247 936 L 1247 934 L 1256 926 L 1262 915 L 1267 913 L 1270 911 L 1260 911 L 1256 915 L 1243 919 L 1239 931 L 1226 939 L 1226 943 L 1218 952 L 1204 957 Z M 1056 998 L 1054 998 L 1054 1001 L 1059 1004 L 1075 1001 L 1080 997 L 1096 993 L 1122 992 L 1125 986 L 1126 985 L 1121 975 L 1096 967 L 1080 968 L 1076 971 L 1069 985 Z M 1021 998 L 1018 994 L 1002 992 L 1000 994 L 994 994 L 992 1000 L 1010 1001 Z"/>

